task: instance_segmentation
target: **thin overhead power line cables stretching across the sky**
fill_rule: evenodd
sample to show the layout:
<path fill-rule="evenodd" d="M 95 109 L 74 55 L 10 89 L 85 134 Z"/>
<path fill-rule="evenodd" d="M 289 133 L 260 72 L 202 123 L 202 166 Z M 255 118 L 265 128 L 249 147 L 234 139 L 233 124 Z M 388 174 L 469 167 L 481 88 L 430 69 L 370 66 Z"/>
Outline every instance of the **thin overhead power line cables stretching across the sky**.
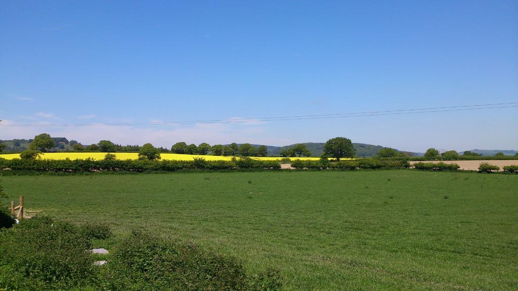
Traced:
<path fill-rule="evenodd" d="M 137 125 L 188 125 L 188 124 L 212 124 L 212 123 L 242 123 L 242 122 L 266 122 L 266 121 L 290 121 L 290 120 L 316 120 L 316 119 L 335 119 L 352 117 L 375 117 L 383 115 L 401 115 L 417 113 L 437 113 L 482 109 L 501 109 L 518 107 L 518 102 L 494 103 L 481 105 L 462 105 L 462 106 L 443 106 L 416 109 L 397 109 L 383 111 L 365 111 L 350 113 L 333 114 L 312 114 L 312 115 L 291 115 L 284 117 L 264 117 L 264 118 L 242 118 L 242 119 L 214 119 L 214 120 L 192 120 L 192 121 L 167 121 L 167 122 L 118 122 L 118 123 L 49 123 L 49 124 L 10 124 L 1 126 L 20 126 L 20 127 L 65 127 L 65 126 L 137 126 Z"/>

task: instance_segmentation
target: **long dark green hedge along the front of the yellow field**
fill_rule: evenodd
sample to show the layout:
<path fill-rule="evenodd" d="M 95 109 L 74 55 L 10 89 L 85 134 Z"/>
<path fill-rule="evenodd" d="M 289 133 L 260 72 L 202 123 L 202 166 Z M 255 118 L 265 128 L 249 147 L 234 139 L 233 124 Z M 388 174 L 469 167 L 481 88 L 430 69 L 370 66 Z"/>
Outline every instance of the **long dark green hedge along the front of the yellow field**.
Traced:
<path fill-rule="evenodd" d="M 231 169 L 280 169 L 277 161 L 258 161 L 239 158 L 235 161 L 206 161 L 195 158 L 193 161 L 149 161 L 138 159 L 95 160 L 95 159 L 0 159 L 2 169 L 20 171 L 53 172 L 98 172 L 98 171 L 178 171 L 185 169 L 231 170 Z"/>

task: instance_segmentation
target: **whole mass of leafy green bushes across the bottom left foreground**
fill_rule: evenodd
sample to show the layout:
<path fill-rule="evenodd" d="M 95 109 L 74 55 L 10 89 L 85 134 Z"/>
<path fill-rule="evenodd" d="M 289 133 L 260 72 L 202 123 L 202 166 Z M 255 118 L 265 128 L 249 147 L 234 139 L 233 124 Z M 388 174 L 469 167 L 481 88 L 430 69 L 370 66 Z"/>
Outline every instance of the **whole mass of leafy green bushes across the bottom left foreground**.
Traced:
<path fill-rule="evenodd" d="M 91 238 L 104 226 L 76 226 L 46 216 L 0 231 L 0 289 L 280 290 L 278 271 L 248 274 L 241 261 L 191 243 L 133 232 L 94 266 Z"/>

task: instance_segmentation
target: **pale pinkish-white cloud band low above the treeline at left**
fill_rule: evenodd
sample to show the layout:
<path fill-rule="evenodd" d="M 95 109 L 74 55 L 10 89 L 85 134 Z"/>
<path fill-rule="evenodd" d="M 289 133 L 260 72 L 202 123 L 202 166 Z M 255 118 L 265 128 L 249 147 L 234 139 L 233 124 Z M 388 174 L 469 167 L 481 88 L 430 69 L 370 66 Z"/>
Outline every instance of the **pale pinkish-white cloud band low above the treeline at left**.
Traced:
<path fill-rule="evenodd" d="M 26 127 L 17 126 L 12 121 L 2 122 L 0 135 L 4 139 L 32 138 L 41 133 L 53 137 L 75 139 L 83 144 L 97 143 L 107 139 L 120 144 L 144 144 L 151 142 L 156 147 L 170 148 L 179 141 L 199 144 L 260 143 L 283 145 L 294 143 L 289 138 L 270 136 L 263 126 L 239 124 L 194 124 L 175 126 L 66 126 L 66 127 Z M 38 125 L 42 125 L 38 123 Z"/>

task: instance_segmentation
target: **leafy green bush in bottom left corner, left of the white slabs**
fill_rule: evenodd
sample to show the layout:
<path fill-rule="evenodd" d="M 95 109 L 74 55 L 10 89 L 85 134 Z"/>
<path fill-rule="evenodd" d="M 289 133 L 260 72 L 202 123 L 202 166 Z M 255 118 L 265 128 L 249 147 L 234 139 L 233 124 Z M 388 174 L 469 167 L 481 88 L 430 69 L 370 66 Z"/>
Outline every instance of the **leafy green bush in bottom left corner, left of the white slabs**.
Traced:
<path fill-rule="evenodd" d="M 0 231 L 0 286 L 67 290 L 91 279 L 90 240 L 77 227 L 34 217 Z"/>

